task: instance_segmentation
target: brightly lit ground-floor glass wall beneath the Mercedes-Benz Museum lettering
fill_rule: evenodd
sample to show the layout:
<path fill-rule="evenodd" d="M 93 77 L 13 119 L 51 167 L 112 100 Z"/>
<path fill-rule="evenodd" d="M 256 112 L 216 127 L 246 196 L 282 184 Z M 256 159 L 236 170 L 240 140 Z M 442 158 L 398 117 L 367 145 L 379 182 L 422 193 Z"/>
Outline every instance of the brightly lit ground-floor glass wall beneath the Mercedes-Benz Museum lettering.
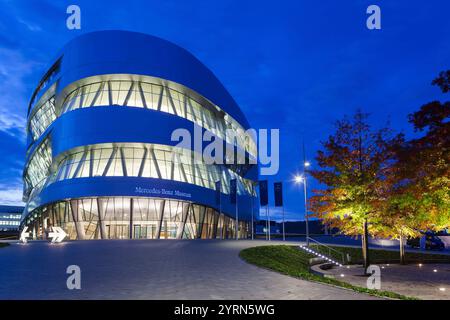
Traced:
<path fill-rule="evenodd" d="M 36 210 L 27 218 L 34 238 L 44 239 L 51 226 L 70 239 L 228 239 L 235 220 L 190 202 L 104 197 L 66 200 Z M 239 222 L 239 237 L 249 235 L 249 222 Z"/>

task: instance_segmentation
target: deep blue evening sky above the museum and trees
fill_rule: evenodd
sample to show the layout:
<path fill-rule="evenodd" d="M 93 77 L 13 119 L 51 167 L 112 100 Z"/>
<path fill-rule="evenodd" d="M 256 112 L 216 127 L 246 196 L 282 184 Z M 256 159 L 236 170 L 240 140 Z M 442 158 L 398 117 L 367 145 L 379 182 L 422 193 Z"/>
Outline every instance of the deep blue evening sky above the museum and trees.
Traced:
<path fill-rule="evenodd" d="M 79 31 L 66 29 L 70 4 L 81 7 Z M 382 30 L 366 28 L 370 4 L 381 7 Z M 442 98 L 430 82 L 450 67 L 449 12 L 448 0 L 0 0 L 0 203 L 20 202 L 27 103 L 50 60 L 81 33 L 123 29 L 186 48 L 253 127 L 280 128 L 281 170 L 269 181 L 286 182 L 286 216 L 303 218 L 291 182 L 302 139 L 312 159 L 334 122 L 357 108 L 374 126 L 389 120 L 411 134 L 407 115 Z"/>

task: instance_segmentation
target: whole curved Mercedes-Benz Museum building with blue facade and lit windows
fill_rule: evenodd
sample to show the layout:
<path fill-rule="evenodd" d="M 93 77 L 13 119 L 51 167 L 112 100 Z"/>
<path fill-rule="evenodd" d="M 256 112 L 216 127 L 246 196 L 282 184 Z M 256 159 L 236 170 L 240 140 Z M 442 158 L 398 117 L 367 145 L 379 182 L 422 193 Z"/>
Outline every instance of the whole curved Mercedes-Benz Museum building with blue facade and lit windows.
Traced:
<path fill-rule="evenodd" d="M 171 135 L 210 133 L 248 160 L 256 156 L 249 127 L 186 50 L 140 33 L 82 35 L 58 54 L 29 105 L 22 225 L 35 238 L 50 226 L 71 239 L 234 238 L 237 179 L 238 235 L 246 238 L 258 212 L 257 165 L 199 163 Z"/>

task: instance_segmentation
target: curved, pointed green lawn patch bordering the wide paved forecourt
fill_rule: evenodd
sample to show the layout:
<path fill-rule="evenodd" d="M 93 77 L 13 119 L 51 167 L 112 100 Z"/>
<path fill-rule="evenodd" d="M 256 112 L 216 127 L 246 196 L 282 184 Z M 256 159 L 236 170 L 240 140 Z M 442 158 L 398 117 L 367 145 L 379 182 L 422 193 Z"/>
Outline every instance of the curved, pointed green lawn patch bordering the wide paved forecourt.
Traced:
<path fill-rule="evenodd" d="M 271 269 L 289 276 L 335 285 L 357 292 L 364 292 L 375 296 L 393 299 L 414 299 L 389 291 L 371 290 L 357 287 L 336 279 L 325 278 L 309 271 L 309 259 L 314 256 L 299 250 L 295 246 L 260 246 L 247 248 L 240 252 L 239 256 L 248 263 Z"/>

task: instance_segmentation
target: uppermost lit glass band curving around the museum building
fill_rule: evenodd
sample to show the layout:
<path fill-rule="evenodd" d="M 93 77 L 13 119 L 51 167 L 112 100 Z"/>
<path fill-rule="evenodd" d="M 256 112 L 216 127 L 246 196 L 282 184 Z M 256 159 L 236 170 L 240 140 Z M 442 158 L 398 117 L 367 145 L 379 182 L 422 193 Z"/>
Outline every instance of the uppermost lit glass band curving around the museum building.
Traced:
<path fill-rule="evenodd" d="M 244 128 L 219 107 L 213 112 L 192 97 L 167 86 L 145 81 L 109 80 L 85 84 L 70 92 L 55 112 L 55 98 L 38 107 L 30 119 L 30 130 L 37 139 L 59 114 L 96 106 L 125 106 L 157 110 L 188 119 L 230 144 L 237 144 L 253 156 L 256 144 Z M 235 137 L 226 136 L 231 129 Z"/>

